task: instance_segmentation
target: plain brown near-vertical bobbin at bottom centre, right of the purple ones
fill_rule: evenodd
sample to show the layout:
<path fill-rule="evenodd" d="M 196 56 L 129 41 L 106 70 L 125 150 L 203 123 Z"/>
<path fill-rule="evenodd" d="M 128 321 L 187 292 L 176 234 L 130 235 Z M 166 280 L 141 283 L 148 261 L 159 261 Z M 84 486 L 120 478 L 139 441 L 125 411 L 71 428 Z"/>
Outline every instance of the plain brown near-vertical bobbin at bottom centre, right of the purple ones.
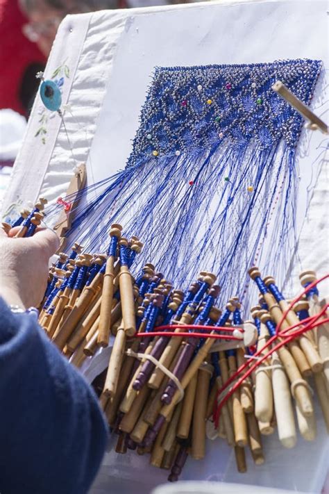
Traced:
<path fill-rule="evenodd" d="M 212 365 L 205 363 L 197 374 L 196 395 L 194 400 L 194 413 L 192 422 L 192 450 L 191 456 L 195 460 L 205 457 L 205 413 L 210 379 L 212 377 Z"/>

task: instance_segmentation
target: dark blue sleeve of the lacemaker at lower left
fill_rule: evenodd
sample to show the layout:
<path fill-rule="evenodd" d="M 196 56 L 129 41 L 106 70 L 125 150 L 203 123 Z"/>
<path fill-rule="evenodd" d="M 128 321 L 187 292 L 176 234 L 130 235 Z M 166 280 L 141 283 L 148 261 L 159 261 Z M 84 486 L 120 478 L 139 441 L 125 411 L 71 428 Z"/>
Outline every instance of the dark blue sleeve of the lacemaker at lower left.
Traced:
<path fill-rule="evenodd" d="M 0 493 L 87 493 L 107 434 L 81 374 L 0 299 Z"/>

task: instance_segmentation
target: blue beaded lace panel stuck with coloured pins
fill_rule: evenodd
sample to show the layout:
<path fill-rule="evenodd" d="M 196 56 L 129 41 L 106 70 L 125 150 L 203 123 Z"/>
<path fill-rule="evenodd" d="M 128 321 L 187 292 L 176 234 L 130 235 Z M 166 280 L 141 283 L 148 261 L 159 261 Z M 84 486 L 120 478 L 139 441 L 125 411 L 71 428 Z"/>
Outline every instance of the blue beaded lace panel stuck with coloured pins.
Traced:
<path fill-rule="evenodd" d="M 320 70 L 319 60 L 157 67 L 128 166 L 223 141 L 265 149 L 284 139 L 293 148 L 303 119 L 271 86 L 280 80 L 309 104 Z"/>

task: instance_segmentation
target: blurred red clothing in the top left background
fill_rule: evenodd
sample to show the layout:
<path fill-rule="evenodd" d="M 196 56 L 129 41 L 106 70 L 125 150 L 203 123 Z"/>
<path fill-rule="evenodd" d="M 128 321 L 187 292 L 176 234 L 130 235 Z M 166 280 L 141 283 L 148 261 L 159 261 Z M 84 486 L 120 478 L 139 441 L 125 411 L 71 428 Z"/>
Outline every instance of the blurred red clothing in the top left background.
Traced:
<path fill-rule="evenodd" d="M 0 0 L 0 108 L 28 114 L 38 82 L 33 78 L 46 59 L 22 33 L 27 19 L 17 0 Z"/>

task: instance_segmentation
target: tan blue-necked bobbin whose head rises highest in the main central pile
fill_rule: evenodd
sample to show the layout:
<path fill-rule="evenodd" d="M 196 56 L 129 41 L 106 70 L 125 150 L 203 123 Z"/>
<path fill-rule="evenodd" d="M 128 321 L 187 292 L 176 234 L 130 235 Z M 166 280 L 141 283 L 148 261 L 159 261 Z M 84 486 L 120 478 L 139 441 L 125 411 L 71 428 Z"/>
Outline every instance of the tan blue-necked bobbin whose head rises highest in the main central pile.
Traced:
<path fill-rule="evenodd" d="M 114 295 L 115 260 L 117 258 L 117 243 L 121 238 L 122 227 L 120 224 L 112 224 L 110 229 L 110 247 L 106 260 L 106 270 L 103 277 L 103 291 L 101 310 L 99 315 L 98 343 L 102 347 L 108 346 L 111 327 L 112 301 Z"/>

